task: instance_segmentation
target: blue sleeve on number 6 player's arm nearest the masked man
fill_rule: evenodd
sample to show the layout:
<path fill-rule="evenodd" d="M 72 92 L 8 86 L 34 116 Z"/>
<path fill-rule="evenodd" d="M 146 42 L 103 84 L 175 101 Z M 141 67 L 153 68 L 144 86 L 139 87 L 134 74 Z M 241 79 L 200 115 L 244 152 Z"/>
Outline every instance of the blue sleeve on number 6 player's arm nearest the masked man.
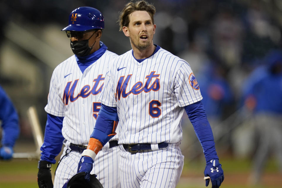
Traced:
<path fill-rule="evenodd" d="M 118 121 L 117 107 L 101 104 L 95 127 L 90 137 L 98 139 L 104 146 L 116 134 L 115 121 Z"/>

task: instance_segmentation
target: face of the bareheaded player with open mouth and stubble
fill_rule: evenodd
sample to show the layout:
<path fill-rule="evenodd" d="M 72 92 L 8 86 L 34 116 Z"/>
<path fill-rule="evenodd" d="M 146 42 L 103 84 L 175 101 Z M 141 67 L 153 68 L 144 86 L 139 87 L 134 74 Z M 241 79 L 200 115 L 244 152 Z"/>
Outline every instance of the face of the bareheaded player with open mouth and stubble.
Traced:
<path fill-rule="evenodd" d="M 147 11 L 135 11 L 129 15 L 128 27 L 123 27 L 122 31 L 128 36 L 132 48 L 139 50 L 147 49 L 154 45 L 152 40 L 155 34 L 156 24 L 152 23 L 151 16 Z"/>

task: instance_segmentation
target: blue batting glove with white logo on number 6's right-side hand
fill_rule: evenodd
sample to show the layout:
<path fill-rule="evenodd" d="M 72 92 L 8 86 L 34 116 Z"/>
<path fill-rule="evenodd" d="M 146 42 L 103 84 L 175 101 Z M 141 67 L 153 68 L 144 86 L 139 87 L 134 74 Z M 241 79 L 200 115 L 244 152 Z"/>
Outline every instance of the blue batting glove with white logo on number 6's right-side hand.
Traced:
<path fill-rule="evenodd" d="M 206 180 L 206 187 L 208 187 L 209 179 L 211 179 L 212 188 L 219 188 L 224 180 L 224 174 L 218 159 L 213 159 L 207 162 L 204 175 L 204 179 Z"/>

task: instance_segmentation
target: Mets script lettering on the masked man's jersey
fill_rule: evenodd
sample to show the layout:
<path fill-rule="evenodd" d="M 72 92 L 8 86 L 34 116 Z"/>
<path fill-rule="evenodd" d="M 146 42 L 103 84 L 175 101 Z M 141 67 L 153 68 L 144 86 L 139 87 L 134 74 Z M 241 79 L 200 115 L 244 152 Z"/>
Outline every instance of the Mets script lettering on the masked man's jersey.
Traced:
<path fill-rule="evenodd" d="M 77 96 L 73 96 L 74 95 L 74 91 L 76 88 L 76 85 L 78 83 L 78 79 L 74 80 L 73 85 L 71 85 L 71 82 L 68 82 L 65 90 L 64 90 L 64 94 L 63 94 L 63 102 L 65 105 L 68 105 L 68 102 L 74 102 L 75 100 L 77 100 L 79 97 L 82 98 L 86 98 L 88 97 L 90 94 L 92 95 L 97 95 L 98 93 L 100 93 L 102 91 L 103 85 L 104 83 L 98 88 L 100 81 L 105 80 L 105 78 L 102 77 L 103 74 L 98 75 L 98 78 L 95 78 L 93 80 L 93 86 L 92 88 L 90 87 L 90 85 L 85 85 L 83 86 L 83 88 L 81 88 L 80 92 L 78 93 Z M 71 87 L 70 87 L 71 85 Z"/>

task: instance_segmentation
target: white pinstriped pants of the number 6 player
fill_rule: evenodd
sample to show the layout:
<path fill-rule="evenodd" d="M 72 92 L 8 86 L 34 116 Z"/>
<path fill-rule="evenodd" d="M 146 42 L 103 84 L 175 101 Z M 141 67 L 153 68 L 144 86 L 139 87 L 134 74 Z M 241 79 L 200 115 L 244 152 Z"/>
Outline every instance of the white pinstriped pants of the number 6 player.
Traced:
<path fill-rule="evenodd" d="M 122 145 L 119 147 L 122 188 L 176 187 L 184 164 L 179 143 L 137 153 L 125 151 Z"/>

